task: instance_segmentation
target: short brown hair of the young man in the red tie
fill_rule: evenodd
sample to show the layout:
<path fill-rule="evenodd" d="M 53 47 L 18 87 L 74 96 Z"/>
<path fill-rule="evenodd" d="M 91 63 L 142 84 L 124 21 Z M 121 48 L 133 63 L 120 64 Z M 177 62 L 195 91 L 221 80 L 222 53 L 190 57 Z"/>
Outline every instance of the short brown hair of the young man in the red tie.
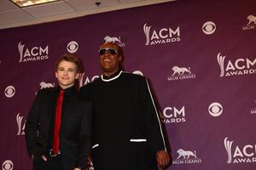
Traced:
<path fill-rule="evenodd" d="M 58 59 L 55 63 L 55 71 L 58 70 L 58 66 L 60 65 L 61 61 L 72 62 L 73 64 L 76 65 L 76 71 L 79 72 L 79 73 L 84 71 L 81 59 L 79 59 L 78 57 L 76 57 L 73 54 L 63 54 L 63 55 L 61 55 L 61 58 Z"/>

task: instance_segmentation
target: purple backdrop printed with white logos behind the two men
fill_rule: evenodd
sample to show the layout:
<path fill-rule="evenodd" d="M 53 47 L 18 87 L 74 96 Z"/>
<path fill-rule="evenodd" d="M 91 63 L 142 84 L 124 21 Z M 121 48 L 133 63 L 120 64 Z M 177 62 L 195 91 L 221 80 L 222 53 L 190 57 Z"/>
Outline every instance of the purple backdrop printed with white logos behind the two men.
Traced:
<path fill-rule="evenodd" d="M 168 170 L 254 170 L 255 9 L 254 0 L 178 0 L 0 30 L 1 168 L 32 169 L 26 116 L 38 89 L 57 86 L 55 60 L 79 56 L 83 86 L 101 75 L 99 46 L 117 42 L 125 71 L 154 90 Z"/>

